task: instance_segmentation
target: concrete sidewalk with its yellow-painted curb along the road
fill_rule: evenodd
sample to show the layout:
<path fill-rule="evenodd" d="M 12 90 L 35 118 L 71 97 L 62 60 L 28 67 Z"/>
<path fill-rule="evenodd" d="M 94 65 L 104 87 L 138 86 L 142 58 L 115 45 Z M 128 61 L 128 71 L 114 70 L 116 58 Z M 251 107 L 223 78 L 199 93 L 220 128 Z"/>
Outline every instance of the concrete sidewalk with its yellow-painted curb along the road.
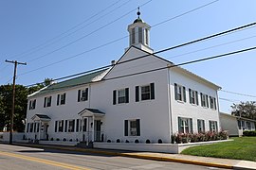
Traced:
<path fill-rule="evenodd" d="M 61 146 L 61 145 L 43 145 L 43 144 L 15 144 L 15 145 L 48 148 L 48 149 L 61 149 L 61 150 L 68 150 L 68 151 L 78 151 L 78 152 L 84 152 L 84 153 L 130 157 L 130 158 L 155 160 L 155 161 L 175 161 L 175 162 L 181 162 L 181 163 L 197 164 L 197 165 L 227 168 L 227 169 L 255 169 L 256 170 L 255 161 L 217 159 L 217 158 L 197 157 L 197 156 L 181 155 L 181 154 L 81 148 L 81 147 Z"/>

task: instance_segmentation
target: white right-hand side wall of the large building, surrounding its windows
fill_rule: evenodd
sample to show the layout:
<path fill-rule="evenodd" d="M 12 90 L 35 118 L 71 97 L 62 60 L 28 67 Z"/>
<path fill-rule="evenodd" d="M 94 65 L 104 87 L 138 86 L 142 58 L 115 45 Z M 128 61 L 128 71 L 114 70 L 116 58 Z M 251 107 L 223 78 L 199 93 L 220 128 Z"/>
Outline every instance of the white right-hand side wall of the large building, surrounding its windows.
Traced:
<path fill-rule="evenodd" d="M 197 119 L 205 120 L 205 130 L 209 131 L 209 121 L 217 121 L 218 129 L 220 129 L 219 121 L 219 111 L 218 104 L 216 103 L 216 110 L 210 108 L 203 108 L 201 106 L 200 93 L 208 94 L 209 96 L 215 97 L 217 102 L 217 92 L 216 90 L 210 88 L 206 83 L 202 83 L 198 80 L 194 80 L 191 76 L 186 76 L 180 69 L 171 68 L 170 69 L 170 80 L 171 80 L 171 103 L 172 103 L 172 123 L 173 123 L 173 133 L 178 132 L 178 117 L 192 118 L 192 128 L 193 132 L 197 132 Z M 187 102 L 180 102 L 174 98 L 174 83 L 186 87 L 186 99 Z M 199 105 L 193 105 L 190 103 L 189 88 L 198 92 L 198 102 Z M 210 104 L 210 101 L 209 101 Z"/>

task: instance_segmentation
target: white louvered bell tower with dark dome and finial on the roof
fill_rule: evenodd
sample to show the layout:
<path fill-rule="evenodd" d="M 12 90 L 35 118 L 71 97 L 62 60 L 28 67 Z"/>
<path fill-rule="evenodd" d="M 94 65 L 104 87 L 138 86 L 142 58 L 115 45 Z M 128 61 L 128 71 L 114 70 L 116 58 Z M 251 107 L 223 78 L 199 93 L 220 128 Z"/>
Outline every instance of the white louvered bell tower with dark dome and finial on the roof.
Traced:
<path fill-rule="evenodd" d="M 144 51 L 153 53 L 153 49 L 149 47 L 150 26 L 140 19 L 139 8 L 137 8 L 137 19 L 134 21 L 133 24 L 128 26 L 128 31 L 130 34 L 129 46 L 136 46 L 137 48 L 140 48 Z"/>

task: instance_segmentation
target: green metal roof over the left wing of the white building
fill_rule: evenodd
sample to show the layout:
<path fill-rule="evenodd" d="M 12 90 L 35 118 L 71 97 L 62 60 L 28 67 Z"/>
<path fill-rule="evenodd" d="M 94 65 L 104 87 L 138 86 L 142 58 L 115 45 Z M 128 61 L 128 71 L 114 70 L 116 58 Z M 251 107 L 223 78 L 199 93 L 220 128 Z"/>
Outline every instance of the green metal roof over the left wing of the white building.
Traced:
<path fill-rule="evenodd" d="M 72 88 L 72 87 L 79 86 L 82 84 L 90 83 L 90 82 L 92 82 L 93 78 L 95 78 L 96 76 L 100 76 L 106 70 L 107 69 L 104 69 L 104 70 L 94 72 L 91 74 L 87 74 L 84 76 L 78 76 L 78 77 L 75 77 L 72 79 L 64 80 L 59 83 L 51 84 L 48 87 L 46 87 L 45 89 L 42 89 L 36 93 L 33 93 L 28 97 L 42 95 L 42 94 L 46 94 L 46 93 L 54 93 L 54 92 L 58 92 L 58 91 L 63 91 L 64 89 L 68 89 L 68 88 Z"/>

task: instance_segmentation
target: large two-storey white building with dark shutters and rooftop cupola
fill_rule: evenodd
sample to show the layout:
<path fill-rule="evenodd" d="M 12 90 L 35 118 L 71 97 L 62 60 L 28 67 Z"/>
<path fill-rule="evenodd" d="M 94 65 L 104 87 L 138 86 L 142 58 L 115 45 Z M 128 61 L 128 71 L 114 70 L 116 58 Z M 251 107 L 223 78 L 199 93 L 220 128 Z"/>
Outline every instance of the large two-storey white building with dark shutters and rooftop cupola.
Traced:
<path fill-rule="evenodd" d="M 170 144 L 176 132 L 220 129 L 219 86 L 153 54 L 138 15 L 109 69 L 29 95 L 27 139 Z"/>

